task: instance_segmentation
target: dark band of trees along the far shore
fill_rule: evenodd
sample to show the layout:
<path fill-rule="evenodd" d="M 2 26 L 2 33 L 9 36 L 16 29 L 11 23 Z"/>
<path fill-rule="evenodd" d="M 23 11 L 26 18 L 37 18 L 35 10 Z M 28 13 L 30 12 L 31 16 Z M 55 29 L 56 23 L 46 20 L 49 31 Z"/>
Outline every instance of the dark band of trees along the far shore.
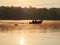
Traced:
<path fill-rule="evenodd" d="M 0 6 L 0 20 L 60 20 L 60 8 Z"/>

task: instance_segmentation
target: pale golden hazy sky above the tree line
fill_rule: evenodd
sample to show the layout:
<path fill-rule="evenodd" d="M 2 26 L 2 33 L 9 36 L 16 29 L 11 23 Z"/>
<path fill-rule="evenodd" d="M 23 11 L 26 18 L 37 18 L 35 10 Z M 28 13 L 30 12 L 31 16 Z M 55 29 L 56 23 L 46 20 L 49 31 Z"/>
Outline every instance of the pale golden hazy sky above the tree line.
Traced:
<path fill-rule="evenodd" d="M 60 8 L 60 0 L 0 0 L 0 6 L 21 6 L 21 7 L 37 7 L 37 8 Z"/>

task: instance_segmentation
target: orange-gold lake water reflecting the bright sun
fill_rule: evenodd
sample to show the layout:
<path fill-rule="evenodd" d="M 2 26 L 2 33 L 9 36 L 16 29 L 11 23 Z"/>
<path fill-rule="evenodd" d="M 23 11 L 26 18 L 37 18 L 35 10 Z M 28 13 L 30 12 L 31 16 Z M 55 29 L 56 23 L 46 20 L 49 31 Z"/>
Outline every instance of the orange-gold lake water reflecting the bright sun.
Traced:
<path fill-rule="evenodd" d="M 29 21 L 0 21 L 0 45 L 60 45 L 60 21 L 44 20 L 42 24 Z"/>

